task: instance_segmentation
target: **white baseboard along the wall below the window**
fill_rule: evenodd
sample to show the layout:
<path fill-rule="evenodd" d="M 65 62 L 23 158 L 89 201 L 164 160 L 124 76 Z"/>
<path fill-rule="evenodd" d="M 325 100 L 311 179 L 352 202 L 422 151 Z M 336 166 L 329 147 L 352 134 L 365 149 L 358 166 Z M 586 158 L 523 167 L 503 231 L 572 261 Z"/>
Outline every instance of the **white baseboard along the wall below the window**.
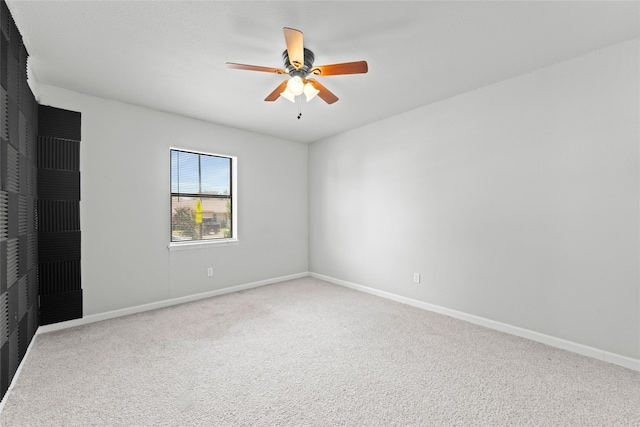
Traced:
<path fill-rule="evenodd" d="M 271 285 L 273 283 L 284 282 L 286 280 L 299 279 L 307 277 L 308 272 L 291 274 L 288 276 L 274 277 L 272 279 L 260 280 L 258 282 L 246 283 L 244 285 L 230 286 L 228 288 L 216 289 L 213 291 L 202 292 L 184 297 L 172 298 L 149 304 L 136 305 L 134 307 L 122 308 L 119 310 L 107 311 L 104 313 L 92 314 L 84 316 L 80 319 L 67 320 L 65 322 L 53 323 L 51 325 L 40 326 L 36 331 L 36 335 L 45 334 L 47 332 L 59 331 L 61 329 L 73 328 L 75 326 L 87 325 L 89 323 L 100 322 L 102 320 L 114 319 L 116 317 L 128 316 L 130 314 L 142 313 L 144 311 L 156 310 L 158 308 L 170 307 L 172 305 L 184 304 L 186 302 L 198 301 L 205 298 L 211 298 L 218 295 L 230 294 L 232 292 L 243 291 L 245 289 L 257 288 L 260 286 Z"/>

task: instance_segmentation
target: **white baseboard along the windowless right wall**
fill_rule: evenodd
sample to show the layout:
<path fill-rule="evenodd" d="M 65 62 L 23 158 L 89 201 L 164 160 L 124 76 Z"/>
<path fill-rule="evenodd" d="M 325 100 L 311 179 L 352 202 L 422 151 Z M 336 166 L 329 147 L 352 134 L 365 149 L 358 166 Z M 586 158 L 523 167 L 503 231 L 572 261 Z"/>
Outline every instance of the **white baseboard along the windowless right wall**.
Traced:
<path fill-rule="evenodd" d="M 509 325 L 507 323 L 497 322 L 495 320 L 487 319 L 473 314 L 464 313 L 450 308 L 442 307 L 435 304 L 430 304 L 424 301 L 415 300 L 412 298 L 403 297 L 401 295 L 392 294 L 390 292 L 373 289 L 368 286 L 358 285 L 356 283 L 347 282 L 345 280 L 336 279 L 334 277 L 325 276 L 323 274 L 309 273 L 309 276 L 316 279 L 324 280 L 326 282 L 341 285 L 357 291 L 366 292 L 368 294 L 376 295 L 382 298 L 397 301 L 403 304 L 411 305 L 423 310 L 433 311 L 435 313 L 444 314 L 446 316 L 454 317 L 456 319 L 465 320 L 469 323 L 484 326 L 490 329 L 495 329 L 500 332 L 505 332 L 511 335 L 516 335 L 522 338 L 527 338 L 532 341 L 536 341 L 542 344 L 549 345 L 551 347 L 560 348 L 563 350 L 571 351 L 573 353 L 581 354 L 583 356 L 592 357 L 594 359 L 602 360 L 605 362 L 613 363 L 615 365 L 623 366 L 634 371 L 640 371 L 640 359 L 634 359 L 620 354 L 611 353 L 605 350 L 601 350 L 594 347 L 589 347 L 583 344 L 578 344 L 573 341 L 567 341 L 562 338 L 557 338 L 551 335 L 542 334 L 539 332 L 531 331 L 529 329 L 520 328 L 518 326 Z"/>

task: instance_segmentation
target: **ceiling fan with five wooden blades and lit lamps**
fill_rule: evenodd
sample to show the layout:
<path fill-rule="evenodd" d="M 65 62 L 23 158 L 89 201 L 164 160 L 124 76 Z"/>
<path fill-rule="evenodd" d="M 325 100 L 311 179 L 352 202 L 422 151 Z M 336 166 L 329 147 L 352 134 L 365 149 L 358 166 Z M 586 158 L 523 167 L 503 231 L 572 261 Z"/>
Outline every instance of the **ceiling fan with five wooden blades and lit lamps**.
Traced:
<path fill-rule="evenodd" d="M 337 76 L 343 74 L 364 74 L 368 71 L 367 61 L 343 62 L 340 64 L 314 66 L 313 52 L 304 47 L 302 32 L 293 28 L 283 28 L 287 49 L 282 53 L 284 68 L 260 67 L 257 65 L 227 62 L 227 67 L 238 70 L 263 71 L 267 73 L 288 74 L 289 78 L 271 92 L 264 100 L 275 101 L 278 97 L 295 102 L 296 96 L 305 95 L 307 102 L 318 95 L 327 104 L 338 100 L 329 89 L 316 79 L 307 76 Z"/>

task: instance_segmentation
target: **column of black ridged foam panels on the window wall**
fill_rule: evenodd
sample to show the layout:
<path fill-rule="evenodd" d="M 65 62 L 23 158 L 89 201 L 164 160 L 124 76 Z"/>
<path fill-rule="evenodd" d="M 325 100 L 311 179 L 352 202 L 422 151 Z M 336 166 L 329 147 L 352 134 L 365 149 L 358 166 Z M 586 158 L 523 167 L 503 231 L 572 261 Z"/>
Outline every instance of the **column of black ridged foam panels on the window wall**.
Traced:
<path fill-rule="evenodd" d="M 38 111 L 40 324 L 82 317 L 80 113 Z"/>

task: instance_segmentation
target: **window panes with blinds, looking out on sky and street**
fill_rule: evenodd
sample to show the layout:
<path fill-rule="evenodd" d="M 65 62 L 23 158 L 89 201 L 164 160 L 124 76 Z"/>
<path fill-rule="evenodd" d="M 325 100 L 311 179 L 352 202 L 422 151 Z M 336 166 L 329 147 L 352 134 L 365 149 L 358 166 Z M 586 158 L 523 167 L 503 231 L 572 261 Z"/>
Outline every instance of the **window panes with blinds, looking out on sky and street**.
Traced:
<path fill-rule="evenodd" d="M 236 237 L 234 160 L 171 150 L 171 242 Z"/>

